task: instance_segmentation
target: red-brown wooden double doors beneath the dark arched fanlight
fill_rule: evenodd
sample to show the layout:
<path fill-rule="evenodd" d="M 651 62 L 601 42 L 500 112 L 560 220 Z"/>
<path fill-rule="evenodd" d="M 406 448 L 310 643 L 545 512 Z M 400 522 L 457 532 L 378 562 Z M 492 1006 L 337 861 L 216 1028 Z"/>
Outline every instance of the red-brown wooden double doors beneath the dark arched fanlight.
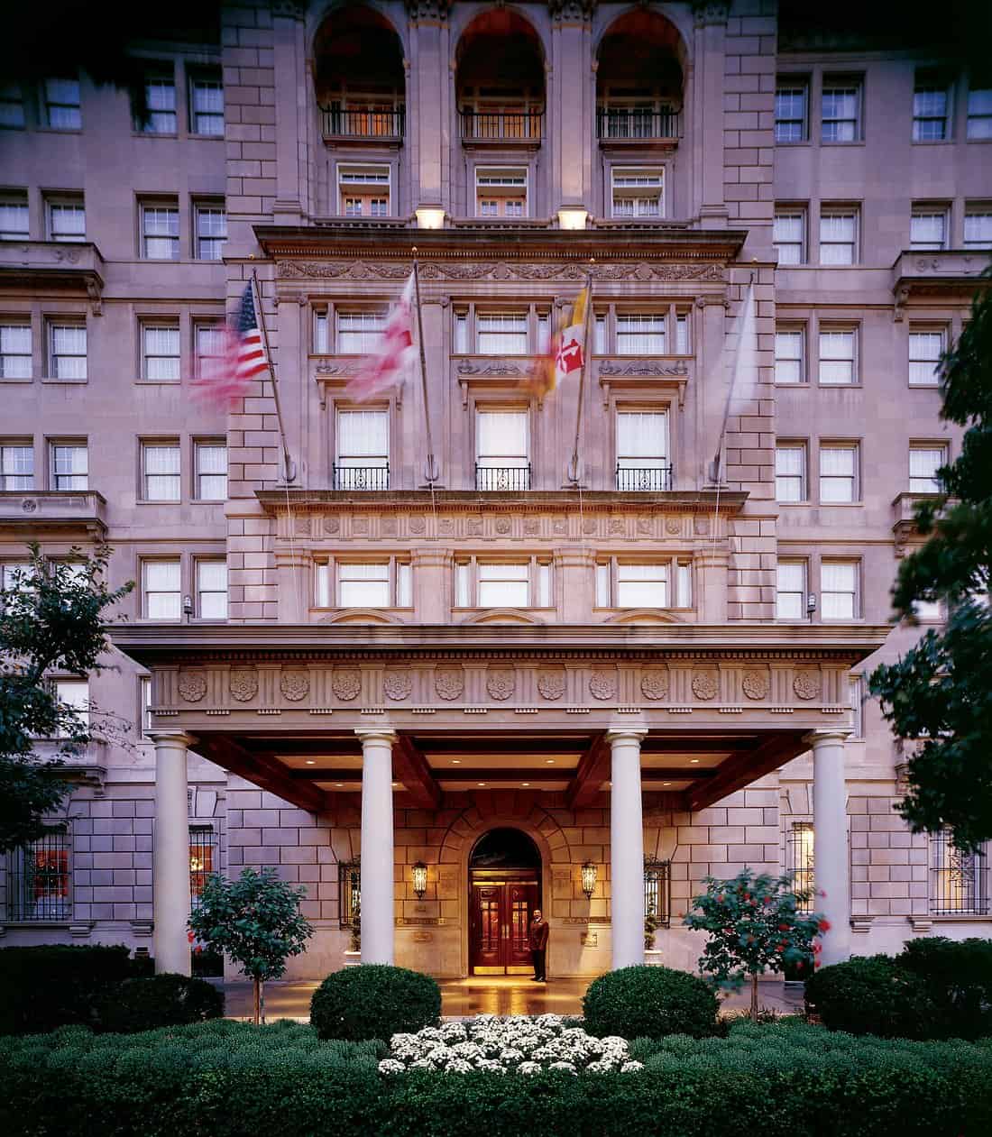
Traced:
<path fill-rule="evenodd" d="M 540 907 L 537 872 L 471 874 L 469 964 L 477 976 L 527 974 L 530 918 Z"/>

